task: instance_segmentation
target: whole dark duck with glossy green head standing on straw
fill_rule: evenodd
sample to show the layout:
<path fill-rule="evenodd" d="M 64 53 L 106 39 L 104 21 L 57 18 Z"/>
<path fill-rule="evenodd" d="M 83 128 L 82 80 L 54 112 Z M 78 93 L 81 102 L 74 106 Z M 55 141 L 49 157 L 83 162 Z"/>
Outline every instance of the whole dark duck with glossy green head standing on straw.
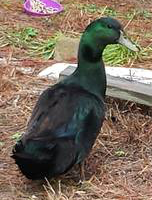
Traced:
<path fill-rule="evenodd" d="M 11 155 L 28 179 L 54 178 L 78 165 L 80 180 L 85 180 L 84 162 L 105 119 L 102 53 L 109 44 L 139 51 L 118 20 L 96 19 L 82 33 L 76 70 L 40 95 Z"/>

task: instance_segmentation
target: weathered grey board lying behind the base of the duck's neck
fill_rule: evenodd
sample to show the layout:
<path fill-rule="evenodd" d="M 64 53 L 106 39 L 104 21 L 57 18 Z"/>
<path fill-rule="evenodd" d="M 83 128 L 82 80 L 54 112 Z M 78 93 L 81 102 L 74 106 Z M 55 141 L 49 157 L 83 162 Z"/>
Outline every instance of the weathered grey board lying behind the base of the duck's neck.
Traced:
<path fill-rule="evenodd" d="M 60 80 L 66 78 L 74 72 L 76 67 L 68 66 L 60 73 Z M 142 84 L 135 81 L 126 80 L 120 77 L 107 75 L 108 96 L 116 97 L 140 104 L 152 106 L 152 85 Z"/>

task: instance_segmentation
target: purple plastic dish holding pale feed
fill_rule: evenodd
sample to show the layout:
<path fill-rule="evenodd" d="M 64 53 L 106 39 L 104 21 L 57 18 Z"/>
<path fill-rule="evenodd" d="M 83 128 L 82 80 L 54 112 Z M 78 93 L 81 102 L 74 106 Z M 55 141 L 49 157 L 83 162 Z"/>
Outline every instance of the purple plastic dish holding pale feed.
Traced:
<path fill-rule="evenodd" d="M 41 13 L 41 12 L 34 12 L 31 10 L 31 4 L 30 4 L 30 0 L 26 0 L 25 3 L 24 3 L 24 10 L 27 14 L 30 14 L 30 15 L 33 15 L 33 16 L 49 16 L 49 15 L 52 15 L 52 14 L 56 14 L 56 13 L 59 13 L 61 11 L 63 11 L 63 6 L 56 2 L 56 1 L 52 1 L 52 0 L 38 0 L 42 3 L 45 4 L 45 7 L 49 8 L 54 8 L 56 11 L 54 13 Z"/>

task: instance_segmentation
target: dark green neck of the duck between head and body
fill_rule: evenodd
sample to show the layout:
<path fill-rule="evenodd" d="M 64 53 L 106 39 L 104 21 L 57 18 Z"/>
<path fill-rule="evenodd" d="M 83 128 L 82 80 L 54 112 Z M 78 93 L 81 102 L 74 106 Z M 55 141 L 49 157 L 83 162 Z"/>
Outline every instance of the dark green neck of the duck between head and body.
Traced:
<path fill-rule="evenodd" d="M 102 61 L 105 46 L 88 45 L 80 42 L 78 51 L 78 68 L 73 76 L 78 84 L 97 96 L 105 97 L 106 74 Z"/>

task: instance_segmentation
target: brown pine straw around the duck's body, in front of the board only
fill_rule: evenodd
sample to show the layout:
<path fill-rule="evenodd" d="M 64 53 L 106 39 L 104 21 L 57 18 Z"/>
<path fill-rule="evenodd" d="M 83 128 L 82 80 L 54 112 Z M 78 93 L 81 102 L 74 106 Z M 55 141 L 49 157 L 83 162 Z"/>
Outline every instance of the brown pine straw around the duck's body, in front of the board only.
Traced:
<path fill-rule="evenodd" d="M 13 73 L 12 70 L 13 70 Z M 55 180 L 30 181 L 10 158 L 16 132 L 24 132 L 35 101 L 50 81 L 0 66 L 1 200 L 147 200 L 152 197 L 152 109 L 107 98 L 107 117 L 86 160 L 87 181 L 78 169 Z M 53 82 L 51 82 L 52 84 Z"/>

